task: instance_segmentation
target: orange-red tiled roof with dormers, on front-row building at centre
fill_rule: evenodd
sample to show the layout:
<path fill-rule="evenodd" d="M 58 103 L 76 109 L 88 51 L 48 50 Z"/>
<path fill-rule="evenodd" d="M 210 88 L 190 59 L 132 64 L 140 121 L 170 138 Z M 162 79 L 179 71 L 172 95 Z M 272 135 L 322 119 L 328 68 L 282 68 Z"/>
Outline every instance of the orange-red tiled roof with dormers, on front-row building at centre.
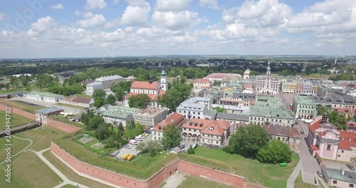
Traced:
<path fill-rule="evenodd" d="M 192 122 L 193 125 L 190 125 L 190 122 Z M 196 123 L 198 123 L 197 126 L 195 125 Z M 202 127 L 200 126 L 201 123 L 203 123 Z M 200 133 L 202 134 L 224 135 L 224 130 L 227 130 L 230 127 L 230 122 L 226 120 L 202 120 L 194 118 L 184 123 L 182 127 L 200 130 Z"/>

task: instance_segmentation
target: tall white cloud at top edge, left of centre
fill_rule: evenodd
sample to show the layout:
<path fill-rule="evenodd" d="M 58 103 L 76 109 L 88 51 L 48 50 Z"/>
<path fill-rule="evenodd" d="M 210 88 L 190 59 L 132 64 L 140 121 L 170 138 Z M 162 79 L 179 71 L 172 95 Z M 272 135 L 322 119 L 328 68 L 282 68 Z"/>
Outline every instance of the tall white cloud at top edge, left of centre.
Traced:
<path fill-rule="evenodd" d="M 150 4 L 145 0 L 127 0 L 129 4 L 121 17 L 121 23 L 126 26 L 147 26 Z"/>

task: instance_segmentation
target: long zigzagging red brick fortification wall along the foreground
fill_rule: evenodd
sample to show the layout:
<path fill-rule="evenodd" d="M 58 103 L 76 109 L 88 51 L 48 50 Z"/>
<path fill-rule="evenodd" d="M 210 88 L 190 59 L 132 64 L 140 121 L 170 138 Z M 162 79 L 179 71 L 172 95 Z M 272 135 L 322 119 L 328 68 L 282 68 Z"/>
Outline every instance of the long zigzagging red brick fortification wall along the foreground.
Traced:
<path fill-rule="evenodd" d="M 204 176 L 209 179 L 213 179 L 217 182 L 222 182 L 225 184 L 232 184 L 235 187 L 244 187 L 244 177 L 239 177 L 234 174 L 227 174 L 225 172 L 219 172 L 214 169 L 209 169 L 206 167 L 201 167 L 197 164 L 192 164 L 189 162 L 175 161 L 168 164 L 166 167 L 161 169 L 159 172 L 154 174 L 147 180 L 138 180 L 131 177 L 126 177 L 122 174 L 116 174 L 107 169 L 101 169 L 99 167 L 93 167 L 89 164 L 85 164 L 76 160 L 74 157 L 70 156 L 64 150 L 61 150 L 55 143 L 51 142 L 51 152 L 61 158 L 70 167 L 74 168 L 77 172 L 82 175 L 88 175 L 96 179 L 101 179 L 110 184 L 115 184 L 120 187 L 139 187 L 139 188 L 152 188 L 158 187 L 164 179 L 167 179 L 171 174 L 174 174 L 178 169 L 187 174 L 192 174 L 194 176 Z"/>

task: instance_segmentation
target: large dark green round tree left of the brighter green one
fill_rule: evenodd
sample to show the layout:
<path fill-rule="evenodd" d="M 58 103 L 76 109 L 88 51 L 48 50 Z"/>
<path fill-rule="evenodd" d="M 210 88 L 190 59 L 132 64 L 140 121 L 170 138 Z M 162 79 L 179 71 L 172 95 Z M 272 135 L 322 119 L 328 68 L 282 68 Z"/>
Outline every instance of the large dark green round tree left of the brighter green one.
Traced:
<path fill-rule="evenodd" d="M 226 152 L 256 157 L 259 150 L 268 143 L 268 132 L 259 125 L 248 125 L 239 127 L 230 139 Z"/>

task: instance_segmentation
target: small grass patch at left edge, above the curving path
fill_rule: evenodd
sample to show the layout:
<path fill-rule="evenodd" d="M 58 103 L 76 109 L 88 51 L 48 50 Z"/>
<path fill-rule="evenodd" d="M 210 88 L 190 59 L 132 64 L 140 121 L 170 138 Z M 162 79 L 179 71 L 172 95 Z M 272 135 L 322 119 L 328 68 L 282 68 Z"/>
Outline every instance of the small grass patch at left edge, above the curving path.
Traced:
<path fill-rule="evenodd" d="M 0 162 L 3 162 L 6 159 L 6 145 L 3 143 L 5 142 L 6 137 L 1 137 L 0 138 Z M 26 146 L 30 145 L 30 142 L 27 140 L 19 140 L 16 137 L 11 137 L 11 155 L 15 155 L 16 153 L 20 152 L 23 148 Z"/>

